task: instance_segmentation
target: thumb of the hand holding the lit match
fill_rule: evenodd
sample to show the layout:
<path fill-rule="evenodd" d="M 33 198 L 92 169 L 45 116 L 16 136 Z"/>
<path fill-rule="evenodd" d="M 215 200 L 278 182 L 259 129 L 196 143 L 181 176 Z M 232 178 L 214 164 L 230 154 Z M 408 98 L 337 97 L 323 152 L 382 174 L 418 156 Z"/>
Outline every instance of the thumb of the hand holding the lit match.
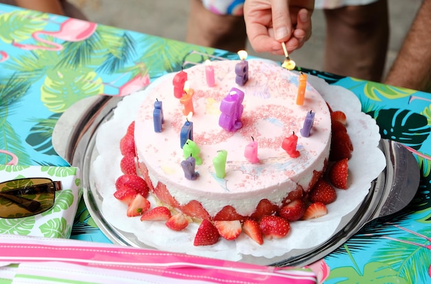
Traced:
<path fill-rule="evenodd" d="M 292 34 L 292 21 L 289 13 L 289 1 L 272 1 L 274 37 L 277 41 L 287 41 Z"/>

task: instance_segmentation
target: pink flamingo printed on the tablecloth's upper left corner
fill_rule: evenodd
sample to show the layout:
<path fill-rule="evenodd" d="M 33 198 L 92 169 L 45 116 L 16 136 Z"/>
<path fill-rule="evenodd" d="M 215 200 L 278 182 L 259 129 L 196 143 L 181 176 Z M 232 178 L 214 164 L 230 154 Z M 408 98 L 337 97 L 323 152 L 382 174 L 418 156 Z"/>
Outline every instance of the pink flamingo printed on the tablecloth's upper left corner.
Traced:
<path fill-rule="evenodd" d="M 62 39 L 63 41 L 83 41 L 84 39 L 88 39 L 89 37 L 91 37 L 92 34 L 94 34 L 96 28 L 96 23 L 70 18 L 61 23 L 60 30 L 57 32 L 37 31 L 32 33 L 32 37 L 34 40 L 41 43 L 46 43 L 49 46 L 21 44 L 17 43 L 16 41 L 13 41 L 12 45 L 23 50 L 41 49 L 58 51 L 63 49 L 63 45 L 61 45 L 60 43 L 54 43 L 52 41 L 43 39 L 41 36 L 51 36 L 55 37 L 56 39 Z"/>

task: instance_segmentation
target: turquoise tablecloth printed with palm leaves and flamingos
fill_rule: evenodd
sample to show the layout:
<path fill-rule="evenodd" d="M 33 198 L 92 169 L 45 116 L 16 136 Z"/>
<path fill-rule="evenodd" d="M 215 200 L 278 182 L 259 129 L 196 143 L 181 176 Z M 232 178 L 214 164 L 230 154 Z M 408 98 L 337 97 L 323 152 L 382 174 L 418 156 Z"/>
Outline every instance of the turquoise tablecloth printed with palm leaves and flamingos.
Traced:
<path fill-rule="evenodd" d="M 0 5 L 0 150 L 15 154 L 21 165 L 67 166 L 50 137 L 70 105 L 90 96 L 127 95 L 207 58 L 237 54 Z M 421 169 L 417 196 L 406 210 L 366 225 L 311 267 L 325 283 L 429 283 L 431 94 L 302 71 L 354 92 L 382 138 L 403 143 Z M 1 163 L 9 159 L 0 153 Z M 82 202 L 72 238 L 109 242 Z"/>

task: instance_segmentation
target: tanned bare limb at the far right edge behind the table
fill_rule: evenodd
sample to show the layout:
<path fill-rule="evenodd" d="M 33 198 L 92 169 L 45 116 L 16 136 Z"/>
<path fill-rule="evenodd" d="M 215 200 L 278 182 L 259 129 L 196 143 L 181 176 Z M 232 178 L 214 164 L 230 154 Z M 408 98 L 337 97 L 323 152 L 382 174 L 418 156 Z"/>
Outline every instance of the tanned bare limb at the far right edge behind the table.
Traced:
<path fill-rule="evenodd" d="M 431 91 L 431 0 L 423 0 L 385 83 Z"/>

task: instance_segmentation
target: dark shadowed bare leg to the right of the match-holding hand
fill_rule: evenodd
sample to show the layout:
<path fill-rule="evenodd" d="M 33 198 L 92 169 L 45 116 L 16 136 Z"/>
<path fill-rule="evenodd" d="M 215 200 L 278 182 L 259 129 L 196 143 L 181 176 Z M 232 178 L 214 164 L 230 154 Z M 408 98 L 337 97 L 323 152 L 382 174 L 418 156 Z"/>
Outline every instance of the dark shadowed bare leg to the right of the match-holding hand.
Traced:
<path fill-rule="evenodd" d="M 324 10 L 326 72 L 381 81 L 388 50 L 388 3 Z"/>

